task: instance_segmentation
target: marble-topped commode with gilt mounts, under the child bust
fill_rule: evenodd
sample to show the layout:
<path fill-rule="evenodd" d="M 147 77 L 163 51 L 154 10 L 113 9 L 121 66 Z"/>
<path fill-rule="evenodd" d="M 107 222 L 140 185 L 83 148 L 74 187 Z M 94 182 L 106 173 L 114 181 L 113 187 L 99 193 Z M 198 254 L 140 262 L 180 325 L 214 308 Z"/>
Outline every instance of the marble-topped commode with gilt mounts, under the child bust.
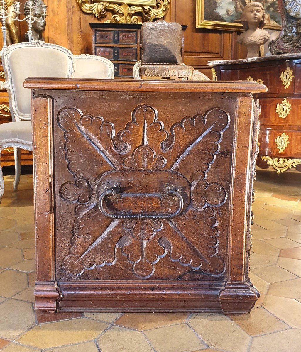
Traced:
<path fill-rule="evenodd" d="M 249 80 L 268 87 L 257 94 L 261 106 L 258 138 L 261 168 L 301 171 L 301 54 L 213 61 L 218 80 Z"/>

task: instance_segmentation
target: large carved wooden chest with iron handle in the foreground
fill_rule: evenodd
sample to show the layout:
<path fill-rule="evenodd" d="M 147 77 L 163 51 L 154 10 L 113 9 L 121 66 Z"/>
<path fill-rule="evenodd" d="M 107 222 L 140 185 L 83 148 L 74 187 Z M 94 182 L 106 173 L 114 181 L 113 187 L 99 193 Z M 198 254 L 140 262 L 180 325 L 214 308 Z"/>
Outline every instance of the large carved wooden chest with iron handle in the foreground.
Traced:
<path fill-rule="evenodd" d="M 250 311 L 255 82 L 32 79 L 36 309 Z"/>

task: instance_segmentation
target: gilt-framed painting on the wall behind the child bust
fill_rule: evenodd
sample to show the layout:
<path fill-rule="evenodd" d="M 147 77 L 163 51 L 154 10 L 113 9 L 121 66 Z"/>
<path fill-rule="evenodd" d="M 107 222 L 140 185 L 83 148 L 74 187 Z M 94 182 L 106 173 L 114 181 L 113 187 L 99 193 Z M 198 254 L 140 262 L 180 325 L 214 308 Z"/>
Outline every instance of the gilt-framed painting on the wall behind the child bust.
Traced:
<path fill-rule="evenodd" d="M 250 0 L 196 0 L 196 27 L 243 31 L 240 14 Z M 264 29 L 281 29 L 277 0 L 258 0 L 265 8 Z"/>

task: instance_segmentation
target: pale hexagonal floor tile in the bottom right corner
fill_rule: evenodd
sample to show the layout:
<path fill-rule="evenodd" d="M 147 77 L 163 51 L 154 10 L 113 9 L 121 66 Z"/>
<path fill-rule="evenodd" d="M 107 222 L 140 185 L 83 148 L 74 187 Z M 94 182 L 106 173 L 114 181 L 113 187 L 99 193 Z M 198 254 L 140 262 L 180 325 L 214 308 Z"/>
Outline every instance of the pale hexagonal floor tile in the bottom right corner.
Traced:
<path fill-rule="evenodd" d="M 301 350 L 301 330 L 289 329 L 253 338 L 249 352 L 295 352 Z"/>

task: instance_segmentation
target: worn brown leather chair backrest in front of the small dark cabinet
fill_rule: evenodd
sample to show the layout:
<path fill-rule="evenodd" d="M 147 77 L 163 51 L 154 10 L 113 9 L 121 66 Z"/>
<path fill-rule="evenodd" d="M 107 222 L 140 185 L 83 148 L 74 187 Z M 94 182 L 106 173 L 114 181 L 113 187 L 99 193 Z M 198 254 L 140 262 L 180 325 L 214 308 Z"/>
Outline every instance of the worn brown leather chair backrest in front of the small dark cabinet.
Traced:
<path fill-rule="evenodd" d="M 182 26 L 176 22 L 145 22 L 141 26 L 142 64 L 182 65 Z"/>

